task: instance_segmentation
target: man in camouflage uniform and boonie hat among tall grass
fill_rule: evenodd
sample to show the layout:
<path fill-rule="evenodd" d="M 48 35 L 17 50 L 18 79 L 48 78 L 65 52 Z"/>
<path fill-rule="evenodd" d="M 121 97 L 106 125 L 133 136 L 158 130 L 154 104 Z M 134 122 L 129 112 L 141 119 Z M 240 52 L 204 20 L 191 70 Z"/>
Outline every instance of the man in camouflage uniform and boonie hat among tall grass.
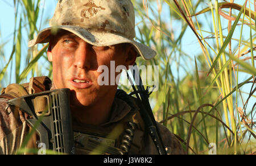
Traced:
<path fill-rule="evenodd" d="M 51 90 L 71 90 L 75 153 L 158 154 L 139 113 L 141 103 L 123 93 L 117 95 L 117 84 L 100 85 L 98 81 L 98 69 L 110 68 L 111 61 L 115 67 L 128 69 L 138 56 L 150 60 L 156 55 L 134 41 L 131 1 L 60 0 L 50 26 L 39 32 L 29 47 L 49 43 L 53 81 L 47 85 L 50 82 L 44 80 L 44 85 Z M 0 98 L 0 153 L 11 154 L 19 149 L 29 127 L 26 114 L 7 105 L 10 95 L 4 94 L 5 90 Z M 156 127 L 168 154 L 184 154 L 174 134 L 159 123 Z M 104 144 L 104 150 L 97 151 L 97 143 Z"/>

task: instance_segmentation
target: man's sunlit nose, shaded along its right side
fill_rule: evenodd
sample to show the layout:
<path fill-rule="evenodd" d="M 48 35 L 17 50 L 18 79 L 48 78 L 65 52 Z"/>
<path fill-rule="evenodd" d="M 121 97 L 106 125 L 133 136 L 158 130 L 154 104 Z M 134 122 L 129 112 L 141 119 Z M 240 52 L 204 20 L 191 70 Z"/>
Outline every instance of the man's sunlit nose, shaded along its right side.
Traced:
<path fill-rule="evenodd" d="M 76 49 L 75 55 L 75 67 L 81 69 L 90 69 L 90 59 L 92 57 L 92 51 L 90 49 L 90 44 L 83 42 Z"/>

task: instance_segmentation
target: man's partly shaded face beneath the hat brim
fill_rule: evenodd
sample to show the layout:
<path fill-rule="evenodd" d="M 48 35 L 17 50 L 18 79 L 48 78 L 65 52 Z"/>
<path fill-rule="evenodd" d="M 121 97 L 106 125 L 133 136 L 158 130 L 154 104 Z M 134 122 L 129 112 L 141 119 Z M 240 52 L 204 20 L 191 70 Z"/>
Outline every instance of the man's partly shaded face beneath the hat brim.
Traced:
<path fill-rule="evenodd" d="M 98 84 L 102 73 L 97 70 L 101 65 L 110 68 L 110 61 L 115 61 L 115 66 L 128 67 L 136 59 L 136 56 L 129 58 L 129 51 L 124 51 L 122 44 L 95 47 L 67 31 L 52 38 L 47 56 L 52 61 L 55 88 L 70 89 L 71 105 L 75 107 L 90 106 L 114 96 L 117 85 Z"/>

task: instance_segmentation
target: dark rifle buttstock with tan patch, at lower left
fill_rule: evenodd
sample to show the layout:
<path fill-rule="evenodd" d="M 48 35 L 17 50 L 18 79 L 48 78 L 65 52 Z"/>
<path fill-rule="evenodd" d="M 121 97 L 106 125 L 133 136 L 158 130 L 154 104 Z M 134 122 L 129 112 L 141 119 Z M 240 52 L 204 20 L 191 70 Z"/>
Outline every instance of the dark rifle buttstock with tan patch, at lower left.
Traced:
<path fill-rule="evenodd" d="M 7 101 L 9 106 L 16 106 L 30 116 L 26 122 L 35 128 L 40 143 L 59 154 L 75 153 L 69 91 L 57 89 Z"/>

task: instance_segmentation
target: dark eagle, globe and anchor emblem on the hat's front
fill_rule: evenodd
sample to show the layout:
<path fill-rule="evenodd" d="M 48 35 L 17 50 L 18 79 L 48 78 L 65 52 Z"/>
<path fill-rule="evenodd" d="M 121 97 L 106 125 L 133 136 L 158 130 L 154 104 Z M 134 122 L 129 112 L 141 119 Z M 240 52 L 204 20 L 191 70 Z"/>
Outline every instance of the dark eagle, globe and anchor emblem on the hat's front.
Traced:
<path fill-rule="evenodd" d="M 97 6 L 92 0 L 86 3 L 86 9 L 82 10 L 81 16 L 83 18 L 90 18 L 98 13 L 98 9 L 105 10 L 104 7 Z"/>

